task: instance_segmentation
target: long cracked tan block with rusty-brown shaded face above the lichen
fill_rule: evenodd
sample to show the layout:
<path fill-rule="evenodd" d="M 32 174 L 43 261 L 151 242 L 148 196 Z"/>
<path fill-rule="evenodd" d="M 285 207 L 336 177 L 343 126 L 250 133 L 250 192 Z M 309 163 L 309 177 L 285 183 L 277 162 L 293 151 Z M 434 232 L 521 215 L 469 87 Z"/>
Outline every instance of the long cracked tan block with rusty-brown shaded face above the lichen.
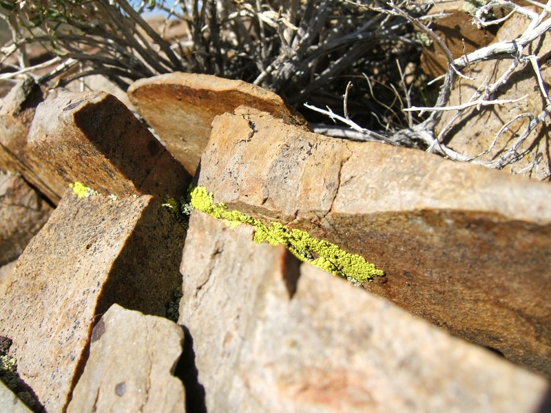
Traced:
<path fill-rule="evenodd" d="M 551 377 L 548 185 L 246 108 L 214 120 L 198 184 L 362 255 L 386 272 L 366 289 Z"/>

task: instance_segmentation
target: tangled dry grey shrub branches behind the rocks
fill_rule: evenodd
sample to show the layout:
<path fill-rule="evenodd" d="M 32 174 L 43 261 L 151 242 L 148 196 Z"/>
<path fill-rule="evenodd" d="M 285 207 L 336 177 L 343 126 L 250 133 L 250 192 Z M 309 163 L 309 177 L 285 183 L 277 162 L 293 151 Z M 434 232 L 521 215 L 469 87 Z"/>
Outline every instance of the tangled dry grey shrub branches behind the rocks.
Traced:
<path fill-rule="evenodd" d="M 488 167 L 516 162 L 530 150 L 523 143 L 549 121 L 548 86 L 530 45 L 551 30 L 547 19 L 551 0 L 546 5 L 530 0 L 537 6 L 533 9 L 506 0 L 479 6 L 472 17 L 479 28 L 499 25 L 514 15 L 522 16 L 526 27 L 517 36 L 457 59 L 431 29 L 441 17 L 429 12 L 437 2 L 3 0 L 0 17 L 10 25 L 12 41 L 0 50 L 0 80 L 27 74 L 54 87 L 103 74 L 126 89 L 132 81 L 156 74 L 216 74 L 278 92 L 295 107 L 309 111 L 305 114 L 315 129 L 326 134 L 422 148 Z M 164 14 L 157 28 L 144 18 L 148 9 Z M 167 33 L 176 23 L 183 29 L 170 37 Z M 435 43 L 448 62 L 446 73 L 435 80 L 441 86 L 432 103 L 425 92 L 428 79 L 416 63 L 424 42 L 419 34 Z M 50 58 L 32 63 L 30 47 L 41 47 Z M 477 63 L 503 60 L 511 63 L 492 81 L 470 76 Z M 501 91 L 528 64 L 545 102 L 543 109 L 506 120 L 482 153 L 448 147 L 450 129 L 472 111 L 513 105 L 523 98 L 503 98 Z M 477 87 L 467 101 L 455 105 L 449 98 L 458 79 Z M 343 98 L 342 112 L 335 113 Z M 310 104 L 303 106 L 306 101 Z M 436 131 L 444 112 L 454 115 Z M 320 124 L 325 116 L 343 126 Z M 497 158 L 481 159 L 510 125 L 525 119 L 525 129 Z"/>

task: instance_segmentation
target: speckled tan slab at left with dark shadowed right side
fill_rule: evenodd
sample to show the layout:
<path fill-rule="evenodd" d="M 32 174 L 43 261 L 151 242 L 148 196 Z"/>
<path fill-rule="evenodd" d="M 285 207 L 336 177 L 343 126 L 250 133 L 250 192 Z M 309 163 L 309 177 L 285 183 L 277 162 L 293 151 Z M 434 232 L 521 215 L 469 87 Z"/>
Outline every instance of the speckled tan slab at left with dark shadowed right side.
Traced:
<path fill-rule="evenodd" d="M 116 302 L 164 315 L 184 230 L 150 195 L 77 198 L 67 191 L 0 284 L 0 336 L 48 411 L 65 409 L 90 332 Z"/>

